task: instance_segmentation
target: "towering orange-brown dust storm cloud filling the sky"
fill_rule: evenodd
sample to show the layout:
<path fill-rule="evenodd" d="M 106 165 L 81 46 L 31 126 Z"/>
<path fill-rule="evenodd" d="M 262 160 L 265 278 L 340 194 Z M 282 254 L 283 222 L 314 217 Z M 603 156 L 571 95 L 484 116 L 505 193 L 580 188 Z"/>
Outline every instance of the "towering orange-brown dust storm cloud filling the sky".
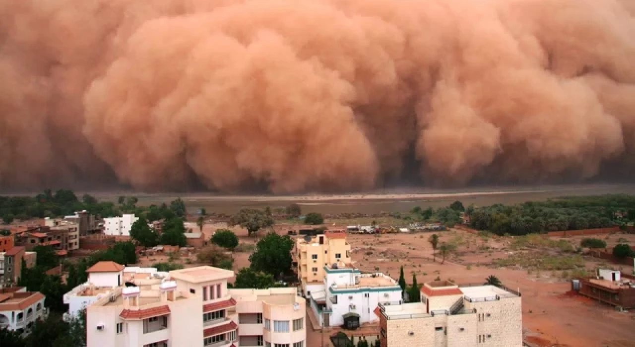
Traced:
<path fill-rule="evenodd" d="M 0 1 L 0 187 L 635 167 L 635 0 Z"/>

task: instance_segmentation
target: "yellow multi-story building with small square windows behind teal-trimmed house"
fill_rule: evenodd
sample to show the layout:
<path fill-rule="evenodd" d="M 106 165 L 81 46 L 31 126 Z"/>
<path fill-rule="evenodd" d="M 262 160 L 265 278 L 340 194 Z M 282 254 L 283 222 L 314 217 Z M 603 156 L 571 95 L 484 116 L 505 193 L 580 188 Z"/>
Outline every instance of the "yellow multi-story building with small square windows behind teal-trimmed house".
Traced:
<path fill-rule="evenodd" d="M 298 237 L 293 260 L 297 264 L 302 295 L 308 298 L 311 291 L 324 291 L 324 265 L 351 264 L 351 245 L 343 231 Z"/>

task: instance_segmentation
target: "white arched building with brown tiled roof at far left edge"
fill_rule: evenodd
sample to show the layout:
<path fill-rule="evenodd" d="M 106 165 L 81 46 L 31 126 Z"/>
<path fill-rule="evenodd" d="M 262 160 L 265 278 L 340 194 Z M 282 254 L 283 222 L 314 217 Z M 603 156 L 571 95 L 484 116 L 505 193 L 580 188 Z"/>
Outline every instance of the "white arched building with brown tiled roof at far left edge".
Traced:
<path fill-rule="evenodd" d="M 0 289 L 0 329 L 27 333 L 34 322 L 46 316 L 44 296 L 25 287 Z"/>

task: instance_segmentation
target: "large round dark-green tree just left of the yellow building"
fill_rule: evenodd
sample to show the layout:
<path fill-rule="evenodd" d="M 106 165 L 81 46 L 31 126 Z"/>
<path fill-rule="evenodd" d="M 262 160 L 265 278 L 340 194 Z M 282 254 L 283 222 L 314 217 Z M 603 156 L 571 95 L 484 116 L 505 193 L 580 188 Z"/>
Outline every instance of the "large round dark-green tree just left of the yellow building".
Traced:
<path fill-rule="evenodd" d="M 255 251 L 249 257 L 251 268 L 271 273 L 274 277 L 291 270 L 291 248 L 293 240 L 288 235 L 268 233 L 258 241 Z"/>

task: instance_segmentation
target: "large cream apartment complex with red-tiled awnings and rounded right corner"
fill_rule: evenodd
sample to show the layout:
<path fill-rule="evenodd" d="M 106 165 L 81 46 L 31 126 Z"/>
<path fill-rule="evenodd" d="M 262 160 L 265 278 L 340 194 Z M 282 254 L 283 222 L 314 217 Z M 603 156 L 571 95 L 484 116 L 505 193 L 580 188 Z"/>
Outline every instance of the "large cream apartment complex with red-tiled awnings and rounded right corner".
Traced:
<path fill-rule="evenodd" d="M 234 272 L 211 266 L 138 278 L 88 305 L 88 347 L 304 347 L 295 288 L 227 290 Z"/>

